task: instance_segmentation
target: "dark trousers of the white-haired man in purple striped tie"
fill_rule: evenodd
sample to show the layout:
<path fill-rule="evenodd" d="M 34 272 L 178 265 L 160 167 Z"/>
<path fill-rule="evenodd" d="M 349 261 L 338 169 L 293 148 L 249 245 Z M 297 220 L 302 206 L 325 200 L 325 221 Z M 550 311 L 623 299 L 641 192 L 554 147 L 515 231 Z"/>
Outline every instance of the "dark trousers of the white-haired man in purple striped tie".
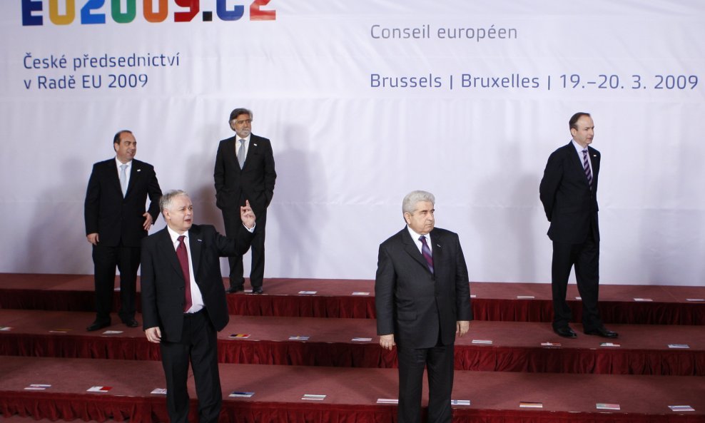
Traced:
<path fill-rule="evenodd" d="M 397 345 L 399 360 L 398 423 L 421 422 L 421 393 L 424 368 L 428 372 L 429 423 L 450 423 L 450 394 L 453 389 L 455 345 L 405 348 Z"/>

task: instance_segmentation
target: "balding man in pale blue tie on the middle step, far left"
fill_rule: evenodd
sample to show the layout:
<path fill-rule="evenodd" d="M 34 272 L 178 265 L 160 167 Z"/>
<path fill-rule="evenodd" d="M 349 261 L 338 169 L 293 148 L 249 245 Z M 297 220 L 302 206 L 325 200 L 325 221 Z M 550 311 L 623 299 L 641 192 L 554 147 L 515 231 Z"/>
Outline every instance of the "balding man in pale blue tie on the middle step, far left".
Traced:
<path fill-rule="evenodd" d="M 135 320 L 137 269 L 142 238 L 159 216 L 161 189 L 154 168 L 135 159 L 137 141 L 130 131 L 113 138 L 115 158 L 93 165 L 86 190 L 86 238 L 93 245 L 96 320 L 86 329 L 110 326 L 115 268 L 120 270 L 120 319 L 129 327 Z M 145 203 L 149 196 L 149 210 Z"/>

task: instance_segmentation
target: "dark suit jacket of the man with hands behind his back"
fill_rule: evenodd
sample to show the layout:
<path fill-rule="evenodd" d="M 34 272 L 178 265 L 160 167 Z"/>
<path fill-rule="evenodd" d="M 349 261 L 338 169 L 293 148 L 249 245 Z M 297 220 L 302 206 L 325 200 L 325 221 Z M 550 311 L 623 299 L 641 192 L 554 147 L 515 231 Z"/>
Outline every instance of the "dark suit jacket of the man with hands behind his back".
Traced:
<path fill-rule="evenodd" d="M 592 190 L 572 141 L 549 156 L 539 185 L 539 197 L 551 223 L 548 236 L 558 243 L 583 243 L 590 228 L 594 239 L 599 240 L 597 182 L 600 153 L 592 147 L 587 150 L 592 162 Z"/>

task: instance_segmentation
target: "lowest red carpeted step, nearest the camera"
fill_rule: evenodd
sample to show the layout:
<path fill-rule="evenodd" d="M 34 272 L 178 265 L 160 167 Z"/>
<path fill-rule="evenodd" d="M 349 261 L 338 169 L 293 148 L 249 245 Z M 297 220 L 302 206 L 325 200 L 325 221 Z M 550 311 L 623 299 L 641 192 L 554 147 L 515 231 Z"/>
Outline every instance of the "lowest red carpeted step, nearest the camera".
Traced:
<path fill-rule="evenodd" d="M 166 421 L 164 388 L 158 362 L 3 357 L 0 360 L 0 413 L 37 419 L 104 419 L 133 423 Z M 392 369 L 343 369 L 274 365 L 220 365 L 223 422 L 392 422 L 395 405 L 378 399 L 397 397 Z M 26 390 L 31 384 L 51 385 Z M 111 387 L 87 392 L 91 387 Z M 193 380 L 189 379 L 192 410 Z M 230 392 L 254 392 L 233 398 Z M 635 394 L 638 392 L 638 394 Z M 454 422 L 703 422 L 705 379 L 610 374 L 455 374 Z M 307 394 L 325 395 L 306 400 Z M 427 392 L 424 393 L 424 402 Z M 520 404 L 540 403 L 541 408 Z M 597 409 L 618 404 L 619 410 Z M 691 412 L 669 406 L 688 405 Z"/>

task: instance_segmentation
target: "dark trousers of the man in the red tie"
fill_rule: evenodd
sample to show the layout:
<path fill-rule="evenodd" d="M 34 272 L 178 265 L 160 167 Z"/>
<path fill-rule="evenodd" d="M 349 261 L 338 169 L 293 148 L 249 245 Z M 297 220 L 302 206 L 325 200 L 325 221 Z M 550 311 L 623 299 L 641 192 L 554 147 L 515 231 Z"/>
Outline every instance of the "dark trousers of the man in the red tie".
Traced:
<path fill-rule="evenodd" d="M 198 396 L 198 421 L 218 423 L 223 392 L 218 374 L 218 346 L 215 328 L 206 309 L 183 315 L 180 342 L 162 340 L 161 362 L 166 375 L 166 407 L 171 423 L 188 423 L 188 362 Z"/>

